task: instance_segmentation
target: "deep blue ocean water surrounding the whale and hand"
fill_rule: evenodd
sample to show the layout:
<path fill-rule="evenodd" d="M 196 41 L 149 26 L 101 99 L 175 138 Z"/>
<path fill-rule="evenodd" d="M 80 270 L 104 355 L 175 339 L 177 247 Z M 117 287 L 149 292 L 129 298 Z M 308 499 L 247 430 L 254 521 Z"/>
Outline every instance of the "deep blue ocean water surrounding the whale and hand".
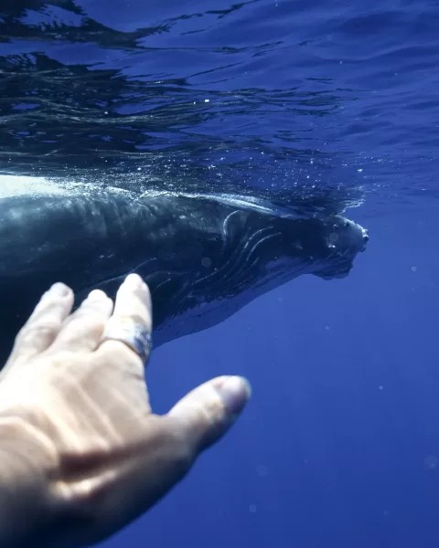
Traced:
<path fill-rule="evenodd" d="M 330 192 L 369 228 L 348 278 L 156 351 L 157 412 L 225 373 L 252 402 L 104 545 L 437 544 L 438 26 L 426 0 L 1 0 L 1 174 Z"/>

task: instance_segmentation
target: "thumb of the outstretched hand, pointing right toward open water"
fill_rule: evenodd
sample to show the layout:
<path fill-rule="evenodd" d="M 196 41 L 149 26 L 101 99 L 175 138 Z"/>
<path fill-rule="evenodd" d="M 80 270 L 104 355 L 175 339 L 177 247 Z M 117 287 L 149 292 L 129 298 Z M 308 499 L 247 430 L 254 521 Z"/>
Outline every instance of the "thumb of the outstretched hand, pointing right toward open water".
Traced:
<path fill-rule="evenodd" d="M 229 430 L 251 393 L 243 377 L 219 376 L 185 395 L 168 416 L 177 419 L 181 435 L 196 457 Z"/>

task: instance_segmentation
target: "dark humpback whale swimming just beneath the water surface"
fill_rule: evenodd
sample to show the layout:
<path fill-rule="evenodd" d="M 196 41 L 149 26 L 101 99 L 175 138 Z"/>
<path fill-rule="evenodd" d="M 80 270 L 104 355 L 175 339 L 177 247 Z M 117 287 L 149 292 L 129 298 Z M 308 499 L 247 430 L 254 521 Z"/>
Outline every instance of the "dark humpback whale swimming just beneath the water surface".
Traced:
<path fill-rule="evenodd" d="M 367 230 L 341 215 L 288 218 L 214 196 L 3 197 L 0 357 L 58 280 L 78 300 L 96 288 L 114 297 L 126 274 L 137 272 L 152 293 L 159 346 L 224 321 L 301 274 L 346 276 L 368 239 Z"/>

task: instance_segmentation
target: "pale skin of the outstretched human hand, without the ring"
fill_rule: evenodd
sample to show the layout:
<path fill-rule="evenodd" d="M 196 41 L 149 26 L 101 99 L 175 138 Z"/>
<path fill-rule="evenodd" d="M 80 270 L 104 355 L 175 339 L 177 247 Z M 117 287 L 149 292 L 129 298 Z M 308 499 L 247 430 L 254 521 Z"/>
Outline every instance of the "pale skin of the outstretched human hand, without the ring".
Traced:
<path fill-rule="evenodd" d="M 70 288 L 52 286 L 0 374 L 2 548 L 108 538 L 182 479 L 250 396 L 241 377 L 217 377 L 154 415 L 140 357 L 101 342 L 108 321 L 152 329 L 143 280 L 129 275 L 114 306 L 100 290 L 72 305 Z"/>

